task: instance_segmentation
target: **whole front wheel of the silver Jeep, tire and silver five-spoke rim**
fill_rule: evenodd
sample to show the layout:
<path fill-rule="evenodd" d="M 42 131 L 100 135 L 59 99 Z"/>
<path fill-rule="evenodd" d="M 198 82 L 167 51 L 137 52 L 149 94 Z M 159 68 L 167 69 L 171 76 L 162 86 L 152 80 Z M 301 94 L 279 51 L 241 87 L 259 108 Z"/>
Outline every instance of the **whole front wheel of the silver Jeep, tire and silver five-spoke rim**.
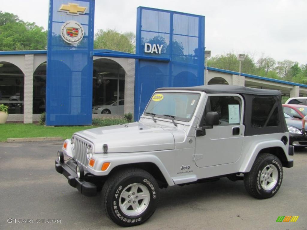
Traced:
<path fill-rule="evenodd" d="M 154 213 L 158 192 L 156 180 L 147 171 L 138 168 L 119 171 L 103 186 L 105 210 L 120 226 L 142 224 Z"/>

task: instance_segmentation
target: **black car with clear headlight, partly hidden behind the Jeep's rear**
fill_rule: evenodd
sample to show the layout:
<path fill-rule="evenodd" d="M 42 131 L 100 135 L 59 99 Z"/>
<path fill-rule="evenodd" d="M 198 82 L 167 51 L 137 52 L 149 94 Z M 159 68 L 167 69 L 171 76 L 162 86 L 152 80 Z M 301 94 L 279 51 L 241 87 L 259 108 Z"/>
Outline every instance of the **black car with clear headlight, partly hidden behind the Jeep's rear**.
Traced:
<path fill-rule="evenodd" d="M 284 113 L 284 115 L 290 133 L 289 144 L 294 147 L 307 147 L 307 132 L 305 135 L 302 133 L 302 120 L 293 118 L 286 113 Z"/>

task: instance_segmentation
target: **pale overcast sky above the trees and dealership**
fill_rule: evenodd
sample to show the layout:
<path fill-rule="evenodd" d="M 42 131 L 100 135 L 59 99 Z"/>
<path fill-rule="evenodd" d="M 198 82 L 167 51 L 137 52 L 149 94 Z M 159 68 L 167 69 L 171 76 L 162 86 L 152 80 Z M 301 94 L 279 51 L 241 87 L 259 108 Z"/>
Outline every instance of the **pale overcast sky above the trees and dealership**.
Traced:
<path fill-rule="evenodd" d="M 69 0 L 67 0 L 69 2 Z M 306 0 L 96 0 L 98 29 L 136 31 L 136 8 L 147 6 L 205 16 L 205 47 L 211 55 L 264 54 L 307 63 Z M 49 0 L 1 0 L 0 10 L 48 27 Z"/>

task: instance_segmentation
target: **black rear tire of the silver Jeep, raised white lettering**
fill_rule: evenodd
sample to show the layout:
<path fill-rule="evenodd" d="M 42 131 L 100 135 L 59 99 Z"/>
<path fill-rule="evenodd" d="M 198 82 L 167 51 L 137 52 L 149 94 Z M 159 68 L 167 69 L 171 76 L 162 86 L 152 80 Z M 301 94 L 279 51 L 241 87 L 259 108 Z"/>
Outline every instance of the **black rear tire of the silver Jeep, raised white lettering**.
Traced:
<path fill-rule="evenodd" d="M 270 168 L 273 168 L 275 177 L 277 177 L 276 183 L 271 184 L 272 188 L 270 188 L 269 182 L 264 182 L 263 176 L 265 175 L 264 173 L 262 174 L 262 172 L 265 172 L 267 169 L 270 170 Z M 270 177 L 272 175 L 273 174 L 270 174 Z M 274 177 L 274 175 L 272 177 Z M 282 163 L 280 162 L 279 158 L 269 153 L 262 153 L 255 159 L 251 171 L 244 175 L 244 185 L 247 192 L 253 197 L 258 199 L 266 199 L 274 196 L 277 193 L 282 184 L 282 178 Z M 261 182 L 261 180 L 263 181 Z M 267 185 L 267 183 L 269 184 L 265 189 L 264 187 Z"/>

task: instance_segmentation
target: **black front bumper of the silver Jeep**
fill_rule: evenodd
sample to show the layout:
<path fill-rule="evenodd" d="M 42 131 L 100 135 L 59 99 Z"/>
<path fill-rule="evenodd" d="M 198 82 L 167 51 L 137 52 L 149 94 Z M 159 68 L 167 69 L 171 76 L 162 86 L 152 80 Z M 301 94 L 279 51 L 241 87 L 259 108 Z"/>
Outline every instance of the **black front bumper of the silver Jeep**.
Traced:
<path fill-rule="evenodd" d="M 85 196 L 91 197 L 97 194 L 97 186 L 91 182 L 86 182 L 79 179 L 76 173 L 77 163 L 71 159 L 67 163 L 60 163 L 57 159 L 55 161 L 56 171 L 63 174 L 68 179 L 68 184 L 77 188 Z"/>

